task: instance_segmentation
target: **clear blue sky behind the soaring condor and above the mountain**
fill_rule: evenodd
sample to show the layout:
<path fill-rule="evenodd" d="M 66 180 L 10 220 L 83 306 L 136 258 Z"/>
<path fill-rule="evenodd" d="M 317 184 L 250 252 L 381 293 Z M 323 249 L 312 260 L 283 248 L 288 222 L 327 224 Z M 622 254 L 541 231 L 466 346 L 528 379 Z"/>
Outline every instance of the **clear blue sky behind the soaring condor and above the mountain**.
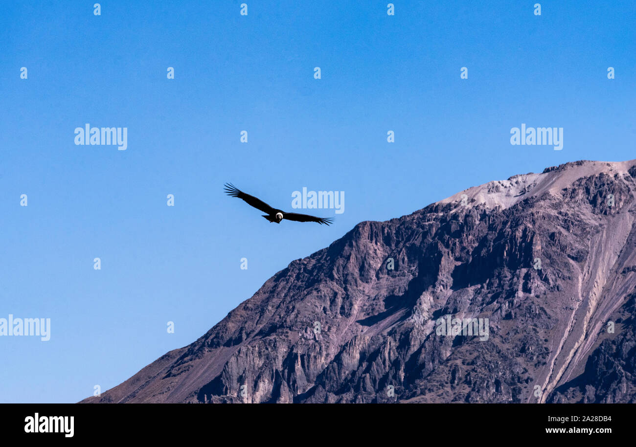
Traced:
<path fill-rule="evenodd" d="M 636 158 L 636 3 L 537 1 L 1 2 L 0 318 L 50 318 L 51 340 L 0 337 L 0 402 L 123 382 L 360 221 Z M 85 123 L 127 150 L 75 145 Z M 522 123 L 563 150 L 511 146 Z M 289 210 L 345 191 L 345 212 L 271 224 L 228 181 Z"/>

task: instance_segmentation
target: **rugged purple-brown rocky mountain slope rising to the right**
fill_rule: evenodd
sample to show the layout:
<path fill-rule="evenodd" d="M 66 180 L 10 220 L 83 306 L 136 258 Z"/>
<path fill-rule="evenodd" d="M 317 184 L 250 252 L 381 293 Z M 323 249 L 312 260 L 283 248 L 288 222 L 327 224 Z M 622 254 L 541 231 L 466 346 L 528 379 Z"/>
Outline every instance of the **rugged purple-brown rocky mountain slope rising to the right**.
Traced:
<path fill-rule="evenodd" d="M 576 162 L 357 224 L 83 402 L 636 402 L 635 213 L 636 160 Z"/>

